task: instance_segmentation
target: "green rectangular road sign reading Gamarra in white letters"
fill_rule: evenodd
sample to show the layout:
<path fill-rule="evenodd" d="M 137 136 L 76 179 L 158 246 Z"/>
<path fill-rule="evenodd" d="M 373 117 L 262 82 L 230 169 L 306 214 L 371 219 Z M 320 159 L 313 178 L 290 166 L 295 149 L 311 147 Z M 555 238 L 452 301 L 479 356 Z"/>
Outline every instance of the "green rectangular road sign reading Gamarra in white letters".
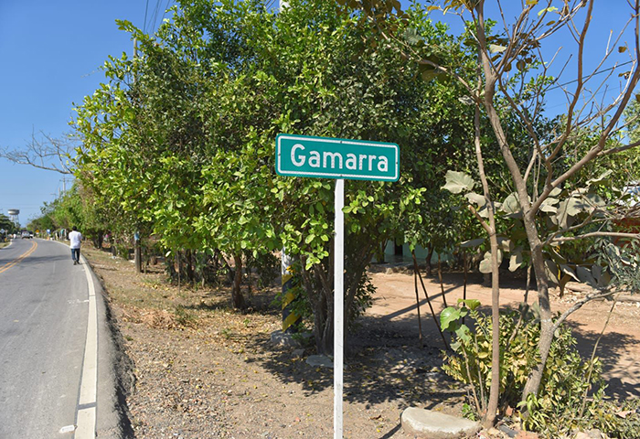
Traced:
<path fill-rule="evenodd" d="M 278 134 L 275 170 L 289 177 L 397 181 L 400 147 L 381 142 Z"/>

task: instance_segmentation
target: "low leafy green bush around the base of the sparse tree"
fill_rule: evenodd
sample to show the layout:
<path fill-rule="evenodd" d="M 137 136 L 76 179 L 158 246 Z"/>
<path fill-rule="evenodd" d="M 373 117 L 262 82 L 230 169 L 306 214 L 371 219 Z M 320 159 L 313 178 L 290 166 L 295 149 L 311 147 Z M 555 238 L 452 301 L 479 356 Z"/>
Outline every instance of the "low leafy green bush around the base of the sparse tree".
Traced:
<path fill-rule="evenodd" d="M 444 354 L 444 371 L 471 387 L 474 415 L 485 413 L 491 385 L 491 317 L 477 311 L 477 300 L 459 301 L 441 314 L 443 330 L 453 333 L 452 354 Z M 507 312 L 500 316 L 500 391 L 499 411 L 519 409 L 522 426 L 549 437 L 558 437 L 574 429 L 598 428 L 612 437 L 637 437 L 640 416 L 624 412 L 605 400 L 602 366 L 581 358 L 575 348 L 571 328 L 560 326 L 549 351 L 538 395 L 520 402 L 528 374 L 539 362 L 539 318 L 535 309 Z M 472 330 L 462 323 L 471 317 Z M 587 398 L 591 394 L 590 398 Z M 628 404 L 627 404 L 628 405 Z M 526 410 L 525 410 L 526 409 Z"/>

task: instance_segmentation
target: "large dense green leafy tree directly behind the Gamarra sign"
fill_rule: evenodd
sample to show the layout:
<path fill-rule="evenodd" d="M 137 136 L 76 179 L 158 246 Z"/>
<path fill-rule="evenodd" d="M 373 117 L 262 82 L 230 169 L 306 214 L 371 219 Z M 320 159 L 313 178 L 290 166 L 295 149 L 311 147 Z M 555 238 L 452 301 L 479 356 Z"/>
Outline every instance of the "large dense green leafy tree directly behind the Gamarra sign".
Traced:
<path fill-rule="evenodd" d="M 277 16 L 257 3 L 200 0 L 177 5 L 155 36 L 123 22 L 139 56 L 105 63 L 108 83 L 78 106 L 75 121 L 83 187 L 148 223 L 167 250 L 224 252 L 235 262 L 236 306 L 247 254 L 282 245 L 299 254 L 321 352 L 333 331 L 332 185 L 276 176 L 275 135 L 396 142 L 411 164 L 397 185 L 348 183 L 353 320 L 366 303 L 358 297 L 372 255 L 421 220 L 426 187 L 441 192 L 430 176 L 443 176 L 447 156 L 464 147 L 457 121 L 468 112 L 445 86 L 416 86 L 417 67 L 392 48 L 368 48 L 373 34 L 338 12 L 320 0 L 292 3 Z M 423 27 L 443 38 L 442 28 Z M 437 130 L 421 123 L 441 113 Z M 437 147 L 443 143 L 447 149 Z M 428 157 L 414 160 L 421 149 Z"/>

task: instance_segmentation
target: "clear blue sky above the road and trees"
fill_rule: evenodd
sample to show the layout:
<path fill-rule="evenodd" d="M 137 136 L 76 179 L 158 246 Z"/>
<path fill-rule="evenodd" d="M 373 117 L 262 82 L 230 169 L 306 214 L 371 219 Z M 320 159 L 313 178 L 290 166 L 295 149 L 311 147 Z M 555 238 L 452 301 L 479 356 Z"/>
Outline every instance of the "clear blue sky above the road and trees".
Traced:
<path fill-rule="evenodd" d="M 104 59 L 133 52 L 133 42 L 118 30 L 115 20 L 127 19 L 149 31 L 159 25 L 167 3 L 0 0 L 0 146 L 23 147 L 33 132 L 53 137 L 69 133 L 73 102 L 80 103 L 97 89 Z M 588 54 L 592 62 L 603 55 L 609 30 L 620 27 L 628 16 L 625 5 L 625 0 L 596 1 Z M 440 19 L 442 14 L 432 17 Z M 568 43 L 566 38 L 557 37 L 553 46 Z M 572 47 L 564 49 L 563 58 Z M 565 80 L 573 78 L 573 71 L 568 71 Z M 563 111 L 561 103 L 553 106 L 554 111 Z M 0 212 L 20 209 L 26 225 L 44 202 L 58 196 L 62 177 L 0 159 Z"/>

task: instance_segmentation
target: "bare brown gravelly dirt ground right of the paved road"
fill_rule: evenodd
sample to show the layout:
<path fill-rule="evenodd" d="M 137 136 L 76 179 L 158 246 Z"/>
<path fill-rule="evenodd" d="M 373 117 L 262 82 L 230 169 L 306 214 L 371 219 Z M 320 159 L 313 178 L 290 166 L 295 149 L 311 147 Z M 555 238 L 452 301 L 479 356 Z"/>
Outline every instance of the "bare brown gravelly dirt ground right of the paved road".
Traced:
<path fill-rule="evenodd" d="M 306 363 L 313 348 L 293 353 L 270 342 L 281 326 L 271 305 L 274 289 L 254 291 L 251 312 L 240 314 L 230 309 L 224 288 L 178 290 L 166 284 L 159 267 L 138 274 L 133 263 L 109 253 L 85 254 L 106 286 L 113 322 L 131 359 L 133 373 L 123 370 L 123 376 L 134 378 L 127 396 L 134 437 L 333 437 L 331 370 Z M 377 268 L 374 305 L 349 339 L 344 437 L 409 439 L 399 422 L 405 408 L 457 414 L 464 391 L 441 373 L 443 344 L 422 295 L 420 347 L 412 275 Z M 444 276 L 449 304 L 462 294 L 461 278 Z M 467 296 L 488 305 L 490 290 L 480 280 L 472 278 Z M 425 283 L 437 312 L 443 305 L 440 285 L 434 278 Z M 515 286 L 501 289 L 505 305 L 522 300 Z M 561 309 L 572 299 L 554 305 Z M 619 397 L 640 396 L 639 306 L 616 306 L 598 352 L 610 393 Z M 591 353 L 609 307 L 592 304 L 572 319 L 584 352 Z"/>

